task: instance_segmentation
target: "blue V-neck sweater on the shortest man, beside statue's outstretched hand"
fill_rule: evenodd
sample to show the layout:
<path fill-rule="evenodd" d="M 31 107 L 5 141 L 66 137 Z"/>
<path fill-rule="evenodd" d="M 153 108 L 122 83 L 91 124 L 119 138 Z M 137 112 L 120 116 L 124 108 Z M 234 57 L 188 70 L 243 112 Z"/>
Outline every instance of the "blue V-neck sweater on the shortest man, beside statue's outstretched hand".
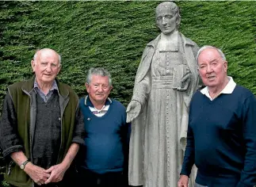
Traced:
<path fill-rule="evenodd" d="M 124 105 L 111 100 L 104 116 L 95 116 L 89 109 L 94 107 L 90 98 L 80 99 L 79 105 L 85 122 L 85 157 L 82 167 L 96 174 L 123 171 L 128 162 L 128 128 Z"/>

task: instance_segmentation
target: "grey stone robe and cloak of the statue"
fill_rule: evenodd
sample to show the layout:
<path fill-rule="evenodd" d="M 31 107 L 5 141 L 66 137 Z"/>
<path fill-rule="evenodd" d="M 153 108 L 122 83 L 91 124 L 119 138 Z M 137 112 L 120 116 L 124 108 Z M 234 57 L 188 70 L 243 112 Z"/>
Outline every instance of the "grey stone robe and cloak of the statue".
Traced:
<path fill-rule="evenodd" d="M 143 110 L 136 120 L 132 121 L 130 185 L 144 187 L 177 185 L 185 149 L 189 102 L 199 85 L 197 44 L 185 38 L 180 32 L 178 35 L 179 48 L 184 59 L 179 59 L 181 64 L 177 67 L 188 67 L 191 74 L 191 80 L 185 90 L 178 90 L 177 86 L 174 86 L 175 80 L 169 80 L 168 74 L 160 76 L 154 74 L 154 71 L 158 71 L 158 67 L 155 65 L 152 67 L 152 61 L 155 63 L 157 61 L 155 56 L 163 54 L 157 48 L 161 35 L 147 44 L 139 64 L 132 101 L 138 101 Z M 174 53 L 170 53 L 170 58 L 172 54 Z M 182 61 L 185 64 L 182 64 Z M 174 67 L 170 74 L 175 74 L 176 69 Z M 176 75 L 173 77 L 176 78 Z M 181 82 L 181 80 L 177 81 Z"/>

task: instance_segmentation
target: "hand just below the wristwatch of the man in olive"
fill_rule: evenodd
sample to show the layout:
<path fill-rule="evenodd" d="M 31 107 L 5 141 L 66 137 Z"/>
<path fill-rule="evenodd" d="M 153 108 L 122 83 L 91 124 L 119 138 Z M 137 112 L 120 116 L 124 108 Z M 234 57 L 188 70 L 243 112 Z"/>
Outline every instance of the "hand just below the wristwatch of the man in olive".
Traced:
<path fill-rule="evenodd" d="M 33 165 L 32 162 L 27 163 L 24 171 L 26 174 L 29 174 L 29 177 L 31 177 L 37 185 L 43 185 L 44 182 L 47 181 L 48 177 L 50 177 L 51 175 L 46 173 L 46 170 L 44 170 L 44 168 Z"/>

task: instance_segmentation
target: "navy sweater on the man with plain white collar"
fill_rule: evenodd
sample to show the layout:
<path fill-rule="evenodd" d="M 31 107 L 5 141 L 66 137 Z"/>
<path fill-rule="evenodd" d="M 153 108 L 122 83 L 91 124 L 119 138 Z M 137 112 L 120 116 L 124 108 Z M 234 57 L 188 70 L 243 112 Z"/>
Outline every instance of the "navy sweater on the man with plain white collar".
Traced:
<path fill-rule="evenodd" d="M 256 99 L 235 86 L 213 101 L 200 91 L 189 109 L 187 146 L 181 174 L 196 164 L 197 183 L 208 187 L 256 185 Z"/>

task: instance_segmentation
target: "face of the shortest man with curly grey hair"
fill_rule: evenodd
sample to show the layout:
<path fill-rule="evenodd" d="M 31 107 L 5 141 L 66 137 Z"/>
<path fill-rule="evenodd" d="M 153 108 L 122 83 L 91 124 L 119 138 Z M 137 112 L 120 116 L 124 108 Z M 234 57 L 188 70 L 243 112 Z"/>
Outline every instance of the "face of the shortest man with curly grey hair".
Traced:
<path fill-rule="evenodd" d="M 89 94 L 90 101 L 94 104 L 103 104 L 109 97 L 113 86 L 109 86 L 109 77 L 101 75 L 92 75 L 91 81 L 86 82 L 86 90 Z"/>

